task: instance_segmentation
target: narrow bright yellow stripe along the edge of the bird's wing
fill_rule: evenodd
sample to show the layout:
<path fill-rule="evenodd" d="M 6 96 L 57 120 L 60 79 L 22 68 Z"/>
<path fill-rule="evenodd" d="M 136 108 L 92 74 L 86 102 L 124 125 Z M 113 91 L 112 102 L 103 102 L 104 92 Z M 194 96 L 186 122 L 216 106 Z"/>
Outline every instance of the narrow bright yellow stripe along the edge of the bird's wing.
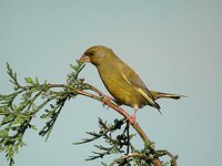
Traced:
<path fill-rule="evenodd" d="M 138 86 L 134 86 L 129 80 L 128 77 L 125 76 L 125 74 L 121 73 L 122 74 L 122 77 L 124 79 L 124 81 L 127 83 L 129 83 L 130 85 L 132 85 L 132 87 L 134 90 L 137 90 L 151 105 L 153 105 L 154 107 L 157 107 L 158 110 L 160 108 L 160 106 L 141 89 L 141 87 L 138 87 Z"/>

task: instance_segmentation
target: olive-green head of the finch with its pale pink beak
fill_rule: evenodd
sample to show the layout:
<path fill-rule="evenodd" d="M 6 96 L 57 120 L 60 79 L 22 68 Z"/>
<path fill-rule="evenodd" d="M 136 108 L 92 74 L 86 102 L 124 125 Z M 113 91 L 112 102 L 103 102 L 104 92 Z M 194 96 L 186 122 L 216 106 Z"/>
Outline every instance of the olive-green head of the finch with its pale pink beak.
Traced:
<path fill-rule="evenodd" d="M 81 59 L 80 62 L 90 62 L 95 66 L 103 64 L 112 56 L 113 52 L 111 49 L 103 45 L 95 45 L 89 48 Z"/>

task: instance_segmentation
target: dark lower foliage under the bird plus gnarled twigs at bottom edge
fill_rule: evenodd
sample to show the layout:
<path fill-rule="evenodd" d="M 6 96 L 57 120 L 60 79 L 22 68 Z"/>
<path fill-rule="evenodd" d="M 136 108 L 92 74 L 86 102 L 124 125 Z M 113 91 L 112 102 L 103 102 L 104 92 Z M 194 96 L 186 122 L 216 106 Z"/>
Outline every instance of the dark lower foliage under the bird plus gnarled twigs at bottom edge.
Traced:
<path fill-rule="evenodd" d="M 81 145 L 85 143 L 95 142 L 98 139 L 103 139 L 104 145 L 94 145 L 97 151 L 93 151 L 91 156 L 85 160 L 94 160 L 98 158 L 103 158 L 104 156 L 111 154 L 121 154 L 122 156 L 114 159 L 109 166 L 120 165 L 120 166 L 154 166 L 152 160 L 154 158 L 164 156 L 167 151 L 154 151 L 153 148 L 148 148 L 144 146 L 143 149 L 137 149 L 132 144 L 131 139 L 135 134 L 129 133 L 129 123 L 125 118 L 114 120 L 113 123 L 108 124 L 107 121 L 99 118 L 99 132 L 87 132 L 89 137 L 82 138 L 79 143 L 73 143 L 74 145 Z M 176 159 L 176 156 L 172 157 Z M 171 162 L 172 166 L 173 160 Z M 108 164 L 102 163 L 103 166 Z M 163 163 L 162 166 L 168 166 L 169 162 Z"/>

